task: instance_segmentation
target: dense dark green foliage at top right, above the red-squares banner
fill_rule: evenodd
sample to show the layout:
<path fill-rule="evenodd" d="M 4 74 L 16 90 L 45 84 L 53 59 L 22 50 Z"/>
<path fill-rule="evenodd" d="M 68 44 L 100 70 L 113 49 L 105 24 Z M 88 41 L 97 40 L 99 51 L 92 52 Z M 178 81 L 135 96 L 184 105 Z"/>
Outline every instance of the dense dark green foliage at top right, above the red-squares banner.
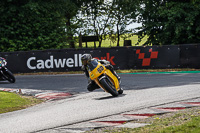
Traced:
<path fill-rule="evenodd" d="M 200 42 L 200 4 L 190 0 L 143 0 L 139 32 L 147 44 L 170 45 Z"/>

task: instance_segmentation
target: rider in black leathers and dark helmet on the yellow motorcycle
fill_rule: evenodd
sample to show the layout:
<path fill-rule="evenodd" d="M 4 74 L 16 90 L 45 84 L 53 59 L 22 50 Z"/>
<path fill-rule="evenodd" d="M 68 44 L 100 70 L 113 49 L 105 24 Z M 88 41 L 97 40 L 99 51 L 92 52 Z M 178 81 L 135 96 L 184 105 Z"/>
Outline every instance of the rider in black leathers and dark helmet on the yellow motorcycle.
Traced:
<path fill-rule="evenodd" d="M 82 67 L 81 69 L 85 72 L 85 75 L 87 76 L 88 78 L 88 86 L 87 86 L 87 89 L 88 91 L 93 91 L 97 88 L 99 88 L 99 86 L 94 82 L 92 81 L 90 78 L 89 78 L 89 72 L 88 72 L 88 68 L 87 68 L 87 65 L 90 63 L 91 60 L 97 60 L 98 62 L 100 62 L 101 64 L 103 64 L 107 69 L 109 69 L 117 78 L 118 80 L 120 81 L 120 77 L 117 75 L 117 73 L 114 71 L 113 69 L 113 66 L 110 64 L 109 61 L 107 60 L 98 60 L 98 59 L 94 59 L 92 58 L 91 54 L 84 54 L 81 56 L 81 61 L 82 61 Z"/>

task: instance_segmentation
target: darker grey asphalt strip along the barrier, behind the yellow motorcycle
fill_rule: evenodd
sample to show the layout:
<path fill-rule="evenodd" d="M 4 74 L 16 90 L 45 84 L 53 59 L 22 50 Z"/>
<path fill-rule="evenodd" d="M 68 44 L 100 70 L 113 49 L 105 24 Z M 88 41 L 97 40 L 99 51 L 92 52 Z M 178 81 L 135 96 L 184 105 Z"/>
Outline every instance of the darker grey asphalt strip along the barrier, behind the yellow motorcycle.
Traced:
<path fill-rule="evenodd" d="M 199 73 L 183 74 L 119 74 L 122 88 L 141 90 L 153 87 L 170 87 L 200 82 Z M 84 74 L 25 75 L 16 76 L 16 83 L 0 81 L 0 88 L 57 90 L 65 92 L 87 92 L 87 78 Z"/>

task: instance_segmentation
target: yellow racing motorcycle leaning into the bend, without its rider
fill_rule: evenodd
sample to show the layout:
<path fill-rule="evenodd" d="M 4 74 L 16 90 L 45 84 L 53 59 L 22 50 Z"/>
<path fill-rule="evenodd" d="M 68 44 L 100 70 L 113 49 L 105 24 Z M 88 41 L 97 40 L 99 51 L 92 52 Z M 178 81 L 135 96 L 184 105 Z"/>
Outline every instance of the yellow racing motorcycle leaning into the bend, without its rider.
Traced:
<path fill-rule="evenodd" d="M 95 81 L 105 92 L 110 93 L 114 97 L 123 93 L 117 77 L 97 60 L 91 60 L 88 68 L 90 79 Z"/>

